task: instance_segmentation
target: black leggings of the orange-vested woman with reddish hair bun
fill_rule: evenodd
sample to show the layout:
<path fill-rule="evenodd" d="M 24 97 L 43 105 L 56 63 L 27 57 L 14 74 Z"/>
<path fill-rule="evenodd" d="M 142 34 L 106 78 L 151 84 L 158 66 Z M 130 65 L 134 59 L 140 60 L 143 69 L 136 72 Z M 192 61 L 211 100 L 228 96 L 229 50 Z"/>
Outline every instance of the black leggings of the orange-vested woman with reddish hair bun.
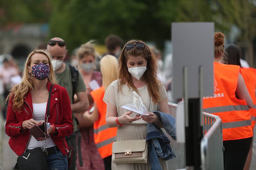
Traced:
<path fill-rule="evenodd" d="M 243 170 L 252 138 L 223 141 L 224 170 Z"/>

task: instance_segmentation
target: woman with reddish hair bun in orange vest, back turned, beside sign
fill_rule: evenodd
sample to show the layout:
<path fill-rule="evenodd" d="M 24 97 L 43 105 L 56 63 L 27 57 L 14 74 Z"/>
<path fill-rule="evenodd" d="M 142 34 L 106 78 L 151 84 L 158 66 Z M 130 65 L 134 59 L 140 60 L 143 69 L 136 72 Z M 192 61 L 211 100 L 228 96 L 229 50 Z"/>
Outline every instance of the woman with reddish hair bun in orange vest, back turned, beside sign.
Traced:
<path fill-rule="evenodd" d="M 214 95 L 205 96 L 205 112 L 222 119 L 224 170 L 243 170 L 252 142 L 249 108 L 252 98 L 240 74 L 240 67 L 224 65 L 224 34 L 214 34 Z"/>

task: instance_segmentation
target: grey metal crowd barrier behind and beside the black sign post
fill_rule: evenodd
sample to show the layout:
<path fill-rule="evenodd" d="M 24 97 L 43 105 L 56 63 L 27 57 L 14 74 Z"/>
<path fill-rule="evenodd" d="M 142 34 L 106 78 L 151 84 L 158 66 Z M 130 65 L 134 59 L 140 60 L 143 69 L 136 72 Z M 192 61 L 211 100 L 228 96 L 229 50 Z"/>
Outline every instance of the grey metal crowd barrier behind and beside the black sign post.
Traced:
<path fill-rule="evenodd" d="M 176 118 L 178 104 L 168 103 L 170 115 Z M 219 116 L 203 112 L 203 135 L 201 158 L 203 170 L 223 170 L 222 123 Z M 167 161 L 169 170 L 186 168 L 185 144 L 178 143 L 168 134 L 176 158 Z"/>

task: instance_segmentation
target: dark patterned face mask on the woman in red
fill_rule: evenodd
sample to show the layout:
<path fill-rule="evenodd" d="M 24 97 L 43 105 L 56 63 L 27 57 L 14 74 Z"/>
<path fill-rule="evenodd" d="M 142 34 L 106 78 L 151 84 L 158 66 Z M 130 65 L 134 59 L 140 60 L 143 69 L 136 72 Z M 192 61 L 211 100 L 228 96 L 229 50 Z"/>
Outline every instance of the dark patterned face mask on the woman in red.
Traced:
<path fill-rule="evenodd" d="M 38 80 L 46 79 L 50 72 L 50 67 L 44 63 L 36 64 L 31 69 L 31 74 Z"/>

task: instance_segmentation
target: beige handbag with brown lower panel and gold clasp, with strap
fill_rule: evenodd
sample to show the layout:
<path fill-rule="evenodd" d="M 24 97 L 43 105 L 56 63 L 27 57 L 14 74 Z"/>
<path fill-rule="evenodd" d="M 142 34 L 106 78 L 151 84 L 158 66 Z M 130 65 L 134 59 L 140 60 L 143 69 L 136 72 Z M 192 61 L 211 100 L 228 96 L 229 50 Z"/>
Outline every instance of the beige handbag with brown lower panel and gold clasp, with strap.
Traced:
<path fill-rule="evenodd" d="M 150 98 L 149 112 L 151 112 L 152 98 Z M 123 140 L 112 145 L 112 163 L 132 164 L 147 163 L 148 143 L 146 139 Z"/>

